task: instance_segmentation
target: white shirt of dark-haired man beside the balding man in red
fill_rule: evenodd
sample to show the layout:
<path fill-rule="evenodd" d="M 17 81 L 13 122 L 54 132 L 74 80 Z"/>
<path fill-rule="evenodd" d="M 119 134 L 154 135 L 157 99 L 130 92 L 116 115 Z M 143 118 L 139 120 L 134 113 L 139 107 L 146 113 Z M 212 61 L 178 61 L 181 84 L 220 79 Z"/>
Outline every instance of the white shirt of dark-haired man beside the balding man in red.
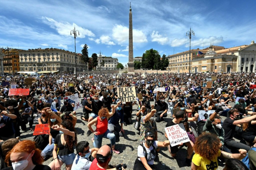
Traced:
<path fill-rule="evenodd" d="M 73 161 L 71 170 L 89 170 L 90 166 L 91 161 L 77 154 Z"/>

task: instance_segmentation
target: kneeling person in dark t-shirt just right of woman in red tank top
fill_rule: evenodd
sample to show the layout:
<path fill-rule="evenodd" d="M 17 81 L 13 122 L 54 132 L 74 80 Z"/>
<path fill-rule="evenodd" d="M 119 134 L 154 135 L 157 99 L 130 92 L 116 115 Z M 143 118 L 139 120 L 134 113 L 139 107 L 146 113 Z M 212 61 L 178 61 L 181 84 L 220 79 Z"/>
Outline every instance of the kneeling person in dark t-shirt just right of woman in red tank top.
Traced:
<path fill-rule="evenodd" d="M 121 125 L 119 124 L 119 120 Z M 123 121 L 123 109 L 122 103 L 120 103 L 115 109 L 113 116 L 109 119 L 109 123 L 107 125 L 107 129 L 115 134 L 115 142 L 119 142 L 119 137 L 123 137 L 123 134 L 125 133 L 125 130 L 123 130 Z"/>

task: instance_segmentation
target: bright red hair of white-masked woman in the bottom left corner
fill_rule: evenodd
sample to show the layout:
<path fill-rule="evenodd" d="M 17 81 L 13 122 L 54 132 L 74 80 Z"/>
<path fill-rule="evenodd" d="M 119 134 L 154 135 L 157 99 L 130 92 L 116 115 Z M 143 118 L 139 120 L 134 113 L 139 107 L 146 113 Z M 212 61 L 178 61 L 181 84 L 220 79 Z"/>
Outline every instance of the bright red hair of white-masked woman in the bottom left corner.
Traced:
<path fill-rule="evenodd" d="M 8 166 L 10 165 L 10 155 L 11 153 L 17 153 L 17 152 L 27 152 L 27 153 L 31 153 L 32 151 L 35 151 L 34 155 L 32 156 L 32 162 L 35 165 L 40 165 L 43 163 L 43 157 L 41 156 L 41 150 L 38 149 L 35 146 L 35 142 L 34 141 L 30 141 L 30 140 L 24 140 L 21 141 L 19 143 L 17 143 L 12 149 L 11 151 L 9 151 L 5 157 L 5 162 L 8 164 Z"/>

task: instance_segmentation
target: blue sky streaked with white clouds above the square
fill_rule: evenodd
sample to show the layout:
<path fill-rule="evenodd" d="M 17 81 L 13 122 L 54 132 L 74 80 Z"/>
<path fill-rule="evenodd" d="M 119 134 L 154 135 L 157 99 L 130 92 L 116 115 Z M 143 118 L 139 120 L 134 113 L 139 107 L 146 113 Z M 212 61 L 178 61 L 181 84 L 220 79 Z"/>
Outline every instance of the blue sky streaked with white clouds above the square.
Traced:
<path fill-rule="evenodd" d="M 246 2 L 246 3 L 245 3 Z M 0 46 L 19 49 L 61 48 L 74 52 L 70 31 L 80 32 L 77 52 L 128 62 L 129 0 L 0 1 Z M 210 43 L 226 48 L 250 44 L 256 37 L 256 1 L 131 0 L 134 57 L 151 48 L 163 54 Z"/>

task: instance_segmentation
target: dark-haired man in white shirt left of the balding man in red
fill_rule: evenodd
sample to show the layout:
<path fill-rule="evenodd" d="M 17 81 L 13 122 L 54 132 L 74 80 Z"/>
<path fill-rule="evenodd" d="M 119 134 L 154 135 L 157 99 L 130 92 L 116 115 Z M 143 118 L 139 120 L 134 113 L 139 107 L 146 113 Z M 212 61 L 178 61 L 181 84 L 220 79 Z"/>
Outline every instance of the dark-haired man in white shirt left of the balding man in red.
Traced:
<path fill-rule="evenodd" d="M 91 162 L 96 158 L 98 148 L 89 147 L 87 141 L 81 141 L 77 144 L 77 155 L 75 156 L 71 170 L 89 170 Z"/>

